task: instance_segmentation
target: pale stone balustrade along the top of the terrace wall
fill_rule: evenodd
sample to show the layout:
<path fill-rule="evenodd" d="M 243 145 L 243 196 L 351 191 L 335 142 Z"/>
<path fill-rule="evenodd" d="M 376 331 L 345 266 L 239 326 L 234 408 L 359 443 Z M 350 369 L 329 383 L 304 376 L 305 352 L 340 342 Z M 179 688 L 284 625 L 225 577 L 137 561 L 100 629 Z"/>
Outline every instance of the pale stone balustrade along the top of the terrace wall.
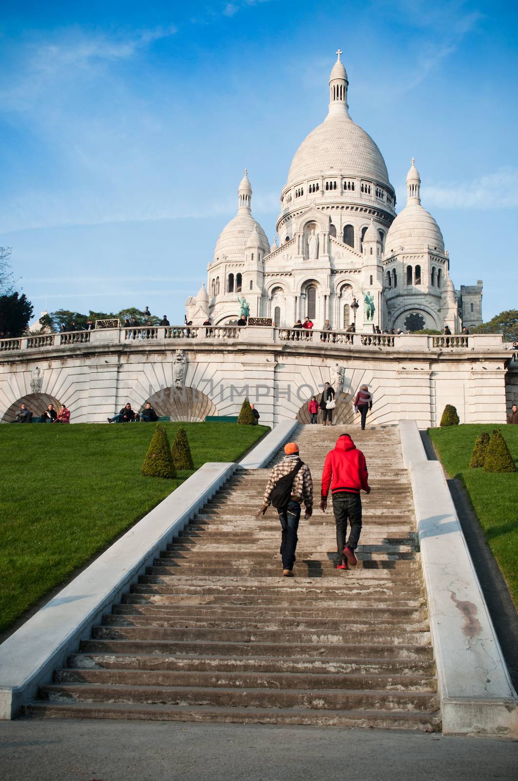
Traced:
<path fill-rule="evenodd" d="M 16 339 L 0 339 L 0 352 L 17 352 L 73 347 L 79 344 L 125 344 L 137 347 L 144 342 L 166 344 L 174 341 L 219 342 L 238 341 L 250 344 L 312 344 L 321 348 L 339 345 L 343 348 L 367 348 L 376 351 L 403 352 L 438 351 L 456 352 L 472 350 L 513 350 L 503 344 L 500 334 L 476 334 L 474 336 L 431 336 L 426 334 L 361 333 L 346 330 L 318 330 L 305 328 L 278 328 L 276 326 L 130 326 L 103 328 L 90 331 L 44 333 Z M 513 351 L 512 361 L 516 361 Z"/>

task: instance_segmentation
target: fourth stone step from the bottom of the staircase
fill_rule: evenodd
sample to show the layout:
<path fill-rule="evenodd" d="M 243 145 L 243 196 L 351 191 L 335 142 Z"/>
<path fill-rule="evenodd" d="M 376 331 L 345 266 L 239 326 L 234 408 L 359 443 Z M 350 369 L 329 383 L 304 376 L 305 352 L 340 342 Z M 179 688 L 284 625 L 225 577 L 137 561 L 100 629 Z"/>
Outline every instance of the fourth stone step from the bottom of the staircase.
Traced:
<path fill-rule="evenodd" d="M 430 659 L 315 659 L 293 657 L 170 656 L 168 654 L 70 654 L 73 669 L 188 670 L 196 672 L 314 672 L 334 675 L 434 676 Z M 435 688 L 433 689 L 435 691 Z"/>

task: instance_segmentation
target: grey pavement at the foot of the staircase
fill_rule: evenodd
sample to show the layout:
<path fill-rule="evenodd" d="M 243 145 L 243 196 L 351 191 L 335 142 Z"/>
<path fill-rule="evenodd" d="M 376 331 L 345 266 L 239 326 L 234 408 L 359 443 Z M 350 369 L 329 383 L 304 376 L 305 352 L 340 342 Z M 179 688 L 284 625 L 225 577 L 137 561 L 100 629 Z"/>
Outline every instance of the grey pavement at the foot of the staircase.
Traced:
<path fill-rule="evenodd" d="M 4 781 L 516 781 L 518 741 L 393 729 L 19 719 Z"/>

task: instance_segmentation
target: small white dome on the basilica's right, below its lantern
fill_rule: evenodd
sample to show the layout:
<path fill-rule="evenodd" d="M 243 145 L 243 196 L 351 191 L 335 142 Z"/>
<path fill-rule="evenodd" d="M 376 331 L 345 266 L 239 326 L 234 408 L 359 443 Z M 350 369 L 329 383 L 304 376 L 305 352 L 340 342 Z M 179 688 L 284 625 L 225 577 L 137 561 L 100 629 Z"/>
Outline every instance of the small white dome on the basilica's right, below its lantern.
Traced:
<path fill-rule="evenodd" d="M 385 255 L 400 247 L 421 251 L 425 244 L 444 252 L 444 239 L 435 219 L 420 203 L 410 203 L 389 227 L 385 237 Z"/>

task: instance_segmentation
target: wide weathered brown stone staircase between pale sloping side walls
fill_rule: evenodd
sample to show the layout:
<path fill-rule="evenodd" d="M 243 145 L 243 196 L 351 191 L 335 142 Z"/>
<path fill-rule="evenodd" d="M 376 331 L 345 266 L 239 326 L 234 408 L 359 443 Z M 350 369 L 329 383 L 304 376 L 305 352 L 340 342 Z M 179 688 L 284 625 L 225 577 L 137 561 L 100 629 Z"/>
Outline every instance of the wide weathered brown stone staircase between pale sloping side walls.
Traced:
<path fill-rule="evenodd" d="M 325 454 L 342 426 L 293 438 L 314 479 L 294 578 L 268 469 L 240 471 L 172 540 L 54 682 L 34 716 L 438 729 L 435 666 L 413 504 L 396 428 L 353 430 L 372 487 L 358 565 L 335 569 Z M 282 458 L 279 454 L 277 458 Z"/>

